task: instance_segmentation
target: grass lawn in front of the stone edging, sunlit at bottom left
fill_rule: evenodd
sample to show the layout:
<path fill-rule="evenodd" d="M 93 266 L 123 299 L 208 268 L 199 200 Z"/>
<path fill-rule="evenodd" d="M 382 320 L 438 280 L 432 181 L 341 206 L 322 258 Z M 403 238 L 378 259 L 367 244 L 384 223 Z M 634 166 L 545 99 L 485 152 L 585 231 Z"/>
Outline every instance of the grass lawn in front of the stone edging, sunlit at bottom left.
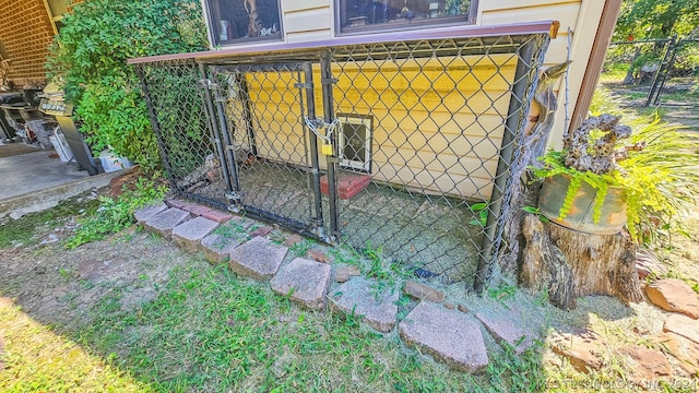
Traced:
<path fill-rule="evenodd" d="M 84 269 L 114 250 L 145 257 L 131 276 Z M 2 392 L 499 392 L 545 383 L 541 347 L 523 357 L 491 350 L 478 376 L 453 371 L 395 332 L 306 311 L 140 230 L 75 250 L 29 242 L 0 252 L 10 255 L 0 267 Z M 43 262 L 22 264 L 27 257 Z M 33 277 L 44 263 L 55 269 Z M 142 297 L 145 289 L 155 295 Z"/>

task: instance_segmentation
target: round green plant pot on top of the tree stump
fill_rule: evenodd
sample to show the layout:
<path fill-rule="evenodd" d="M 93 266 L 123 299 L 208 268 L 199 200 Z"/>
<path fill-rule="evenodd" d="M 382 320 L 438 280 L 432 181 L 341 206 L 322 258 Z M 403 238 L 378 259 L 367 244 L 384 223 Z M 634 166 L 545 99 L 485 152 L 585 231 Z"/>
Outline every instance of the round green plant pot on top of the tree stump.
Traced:
<path fill-rule="evenodd" d="M 626 224 L 626 193 L 618 187 L 609 187 L 602 204 L 600 222 L 594 223 L 594 198 L 596 190 L 582 182 L 573 199 L 567 216 L 559 219 L 570 177 L 556 175 L 544 180 L 538 195 L 538 210 L 552 222 L 567 228 L 592 235 L 614 235 L 621 231 Z"/>

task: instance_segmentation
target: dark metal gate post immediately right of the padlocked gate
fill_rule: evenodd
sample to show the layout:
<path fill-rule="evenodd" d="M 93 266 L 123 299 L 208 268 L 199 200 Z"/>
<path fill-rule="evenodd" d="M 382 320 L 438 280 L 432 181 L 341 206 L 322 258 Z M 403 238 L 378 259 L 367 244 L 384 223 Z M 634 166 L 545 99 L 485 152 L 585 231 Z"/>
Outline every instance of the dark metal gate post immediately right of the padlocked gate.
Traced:
<path fill-rule="evenodd" d="M 320 78 L 323 94 L 323 120 L 327 124 L 332 123 L 334 118 L 333 96 L 332 87 L 334 81 L 332 79 L 331 70 L 332 55 L 325 50 L 320 56 Z M 337 135 L 332 135 L 332 157 L 327 156 L 328 163 L 328 198 L 330 200 L 330 236 L 339 236 L 340 230 L 337 227 L 337 190 L 335 181 L 335 171 L 337 170 Z"/>

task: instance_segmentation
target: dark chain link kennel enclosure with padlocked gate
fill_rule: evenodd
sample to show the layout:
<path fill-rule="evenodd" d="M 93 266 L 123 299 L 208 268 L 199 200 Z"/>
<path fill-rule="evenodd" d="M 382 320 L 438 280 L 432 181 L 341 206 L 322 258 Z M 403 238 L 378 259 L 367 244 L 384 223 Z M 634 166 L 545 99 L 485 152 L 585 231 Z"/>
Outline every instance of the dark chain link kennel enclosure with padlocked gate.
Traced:
<path fill-rule="evenodd" d="M 137 64 L 173 188 L 482 286 L 547 34 Z"/>

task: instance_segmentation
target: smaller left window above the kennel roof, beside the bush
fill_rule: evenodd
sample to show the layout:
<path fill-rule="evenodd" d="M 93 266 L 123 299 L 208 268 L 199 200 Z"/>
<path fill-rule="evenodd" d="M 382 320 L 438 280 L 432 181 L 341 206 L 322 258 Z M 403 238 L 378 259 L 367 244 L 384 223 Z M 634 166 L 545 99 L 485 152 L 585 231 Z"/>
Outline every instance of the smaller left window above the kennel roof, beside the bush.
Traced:
<path fill-rule="evenodd" d="M 281 39 L 279 0 L 205 0 L 213 46 Z"/>

